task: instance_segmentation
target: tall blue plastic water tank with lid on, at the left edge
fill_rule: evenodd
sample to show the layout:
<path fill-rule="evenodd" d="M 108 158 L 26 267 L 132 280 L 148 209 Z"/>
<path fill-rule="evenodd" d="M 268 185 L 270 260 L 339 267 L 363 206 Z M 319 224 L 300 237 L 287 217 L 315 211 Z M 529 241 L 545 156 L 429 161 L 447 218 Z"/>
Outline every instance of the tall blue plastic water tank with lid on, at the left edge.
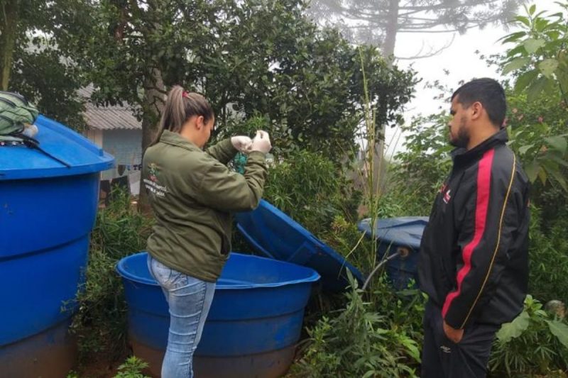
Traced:
<path fill-rule="evenodd" d="M 60 123 L 40 116 L 35 124 L 40 148 L 68 166 L 23 145 L 0 146 L 0 366 L 6 377 L 65 377 L 99 172 L 114 158 Z"/>

